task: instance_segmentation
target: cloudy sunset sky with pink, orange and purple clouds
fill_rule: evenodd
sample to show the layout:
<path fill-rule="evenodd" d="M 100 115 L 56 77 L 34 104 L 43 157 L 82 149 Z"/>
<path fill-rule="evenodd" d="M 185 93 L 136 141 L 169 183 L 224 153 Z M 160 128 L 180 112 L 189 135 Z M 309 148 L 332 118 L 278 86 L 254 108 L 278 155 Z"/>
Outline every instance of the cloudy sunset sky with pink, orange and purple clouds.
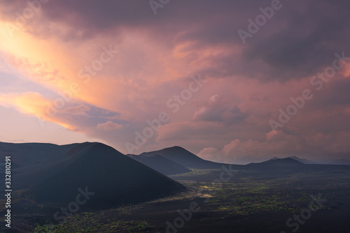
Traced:
<path fill-rule="evenodd" d="M 1 0 L 0 141 L 350 158 L 346 0 Z"/>

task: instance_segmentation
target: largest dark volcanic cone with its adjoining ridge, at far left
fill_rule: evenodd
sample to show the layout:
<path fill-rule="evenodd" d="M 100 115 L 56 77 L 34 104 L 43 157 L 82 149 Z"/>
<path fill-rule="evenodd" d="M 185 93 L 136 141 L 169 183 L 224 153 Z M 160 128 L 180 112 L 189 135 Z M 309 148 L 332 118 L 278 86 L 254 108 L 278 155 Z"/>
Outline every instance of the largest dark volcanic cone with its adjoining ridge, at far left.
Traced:
<path fill-rule="evenodd" d="M 183 188 L 116 149 L 101 143 L 0 143 L 0 158 L 11 156 L 13 190 L 29 188 L 38 203 L 59 208 L 76 200 L 78 188 L 94 193 L 83 208 L 141 202 Z M 3 170 L 0 170 L 3 172 Z M 55 208 L 53 208 L 55 210 Z"/>

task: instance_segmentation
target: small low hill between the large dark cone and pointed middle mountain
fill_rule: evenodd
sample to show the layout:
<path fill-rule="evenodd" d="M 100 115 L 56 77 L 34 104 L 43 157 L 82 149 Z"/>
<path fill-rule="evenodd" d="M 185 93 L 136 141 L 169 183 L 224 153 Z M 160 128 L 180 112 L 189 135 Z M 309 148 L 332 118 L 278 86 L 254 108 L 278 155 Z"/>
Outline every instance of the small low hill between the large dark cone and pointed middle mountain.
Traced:
<path fill-rule="evenodd" d="M 144 163 L 144 165 L 147 165 L 148 167 L 151 167 L 162 174 L 172 175 L 191 172 L 191 170 L 187 169 L 186 167 L 183 167 L 182 165 L 179 165 L 179 163 L 175 163 L 174 161 L 169 160 L 160 155 L 136 156 L 132 154 L 127 154 L 127 156 L 139 161 L 140 163 Z"/>

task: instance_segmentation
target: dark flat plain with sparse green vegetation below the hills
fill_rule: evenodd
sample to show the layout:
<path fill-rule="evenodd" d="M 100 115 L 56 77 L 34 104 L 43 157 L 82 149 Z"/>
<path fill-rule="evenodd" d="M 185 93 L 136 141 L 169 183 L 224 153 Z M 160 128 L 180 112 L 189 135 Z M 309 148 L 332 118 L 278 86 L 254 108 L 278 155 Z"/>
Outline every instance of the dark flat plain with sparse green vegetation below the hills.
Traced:
<path fill-rule="evenodd" d="M 170 176 L 188 187 L 178 195 L 62 222 L 27 202 L 13 232 L 350 232 L 350 166 L 227 168 Z"/>

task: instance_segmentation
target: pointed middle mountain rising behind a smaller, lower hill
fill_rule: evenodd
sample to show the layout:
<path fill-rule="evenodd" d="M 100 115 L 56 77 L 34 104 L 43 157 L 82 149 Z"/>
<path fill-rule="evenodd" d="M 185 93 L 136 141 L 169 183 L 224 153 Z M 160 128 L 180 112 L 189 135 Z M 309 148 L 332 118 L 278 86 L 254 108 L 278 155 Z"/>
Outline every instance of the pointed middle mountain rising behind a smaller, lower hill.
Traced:
<path fill-rule="evenodd" d="M 144 152 L 141 153 L 139 156 L 155 156 L 159 155 L 164 158 L 167 158 L 168 160 L 172 160 L 175 163 L 178 163 L 179 165 L 182 165 L 183 167 L 188 168 L 197 168 L 197 169 L 214 169 L 214 168 L 221 168 L 224 163 L 215 163 L 208 160 L 204 160 L 198 156 L 196 156 L 194 153 L 191 153 L 190 151 L 183 149 L 180 146 L 174 146 L 169 147 L 165 149 L 161 149 L 159 151 L 151 151 L 151 152 Z M 240 165 L 236 165 L 240 167 Z"/>

